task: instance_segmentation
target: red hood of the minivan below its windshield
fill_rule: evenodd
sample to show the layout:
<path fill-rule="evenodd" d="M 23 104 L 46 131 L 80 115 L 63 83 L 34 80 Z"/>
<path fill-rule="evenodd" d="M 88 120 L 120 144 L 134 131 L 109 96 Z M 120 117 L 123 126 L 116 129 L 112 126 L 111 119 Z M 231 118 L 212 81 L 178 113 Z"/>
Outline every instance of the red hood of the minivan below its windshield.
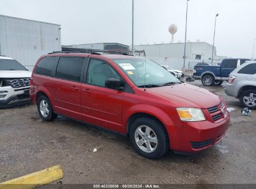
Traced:
<path fill-rule="evenodd" d="M 147 88 L 149 93 L 158 94 L 176 102 L 176 107 L 211 108 L 220 104 L 220 97 L 198 86 L 181 83 L 178 85 Z"/>

